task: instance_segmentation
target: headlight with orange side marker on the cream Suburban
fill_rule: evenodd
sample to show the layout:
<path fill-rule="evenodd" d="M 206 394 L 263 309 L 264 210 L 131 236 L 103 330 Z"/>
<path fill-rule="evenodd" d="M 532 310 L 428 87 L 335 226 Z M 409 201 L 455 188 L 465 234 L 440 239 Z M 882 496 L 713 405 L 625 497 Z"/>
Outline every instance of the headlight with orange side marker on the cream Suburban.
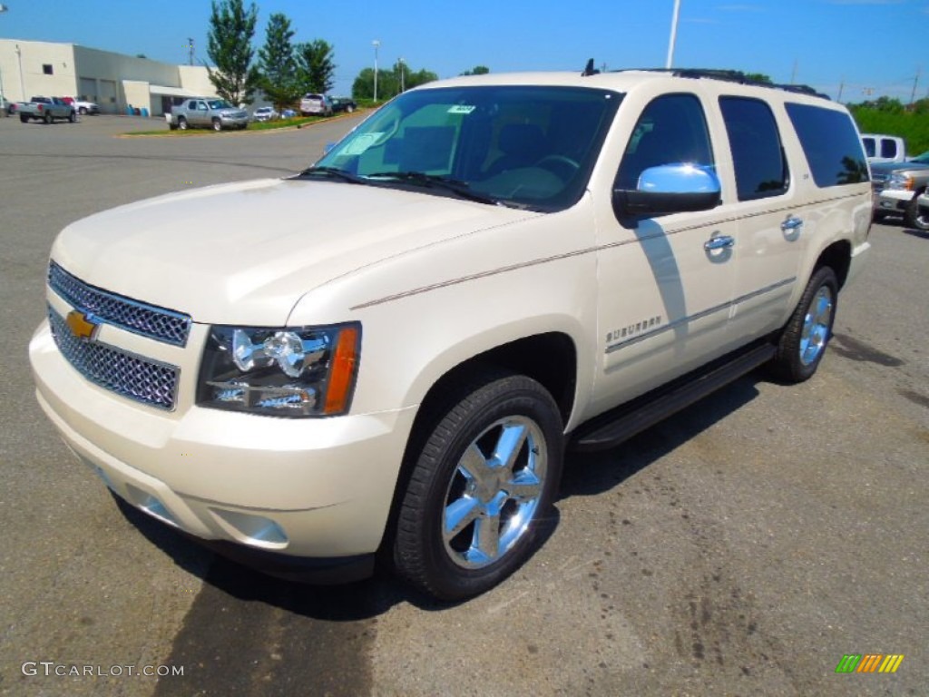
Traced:
<path fill-rule="evenodd" d="M 197 403 L 274 416 L 345 414 L 358 373 L 361 327 L 215 326 Z"/>

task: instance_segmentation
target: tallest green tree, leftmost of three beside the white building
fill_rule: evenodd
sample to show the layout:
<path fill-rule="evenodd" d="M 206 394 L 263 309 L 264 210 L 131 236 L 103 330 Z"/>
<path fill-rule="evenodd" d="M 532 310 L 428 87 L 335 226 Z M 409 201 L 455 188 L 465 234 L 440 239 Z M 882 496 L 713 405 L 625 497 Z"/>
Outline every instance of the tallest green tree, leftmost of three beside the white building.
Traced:
<path fill-rule="evenodd" d="M 216 94 L 233 104 L 251 104 L 260 75 L 252 60 L 255 50 L 255 3 L 246 10 L 242 0 L 216 0 L 212 3 L 206 53 L 216 68 L 206 67 Z"/>

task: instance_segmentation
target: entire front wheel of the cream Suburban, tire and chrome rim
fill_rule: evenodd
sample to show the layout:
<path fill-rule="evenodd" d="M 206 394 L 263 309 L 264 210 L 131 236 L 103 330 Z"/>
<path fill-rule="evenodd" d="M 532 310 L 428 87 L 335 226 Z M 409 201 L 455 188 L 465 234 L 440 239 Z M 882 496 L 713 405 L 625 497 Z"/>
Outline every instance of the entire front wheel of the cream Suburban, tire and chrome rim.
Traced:
<path fill-rule="evenodd" d="M 434 598 L 469 598 L 538 546 L 561 475 L 561 416 L 535 380 L 488 369 L 430 423 L 399 509 L 394 565 Z"/>

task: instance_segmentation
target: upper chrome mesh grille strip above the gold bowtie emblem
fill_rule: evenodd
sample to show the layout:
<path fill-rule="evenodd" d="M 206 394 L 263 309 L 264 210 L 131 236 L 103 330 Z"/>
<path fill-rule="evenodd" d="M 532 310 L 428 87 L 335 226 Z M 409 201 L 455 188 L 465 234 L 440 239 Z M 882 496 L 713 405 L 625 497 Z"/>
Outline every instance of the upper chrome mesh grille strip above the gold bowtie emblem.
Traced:
<path fill-rule="evenodd" d="M 73 307 L 89 312 L 97 322 L 120 327 L 174 346 L 184 346 L 190 335 L 190 315 L 117 296 L 87 285 L 54 261 L 48 265 L 48 285 Z"/>

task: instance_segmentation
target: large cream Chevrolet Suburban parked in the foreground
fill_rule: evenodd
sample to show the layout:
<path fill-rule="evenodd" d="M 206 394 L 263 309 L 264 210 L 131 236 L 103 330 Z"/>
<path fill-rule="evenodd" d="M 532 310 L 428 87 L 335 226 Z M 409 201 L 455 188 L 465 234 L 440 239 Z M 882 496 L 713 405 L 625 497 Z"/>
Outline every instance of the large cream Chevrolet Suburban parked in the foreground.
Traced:
<path fill-rule="evenodd" d="M 230 556 L 334 580 L 380 553 L 465 598 L 538 544 L 566 445 L 763 363 L 814 374 L 870 248 L 868 179 L 848 112 L 795 89 L 431 83 L 299 176 L 63 230 L 38 400 L 115 493 Z"/>

